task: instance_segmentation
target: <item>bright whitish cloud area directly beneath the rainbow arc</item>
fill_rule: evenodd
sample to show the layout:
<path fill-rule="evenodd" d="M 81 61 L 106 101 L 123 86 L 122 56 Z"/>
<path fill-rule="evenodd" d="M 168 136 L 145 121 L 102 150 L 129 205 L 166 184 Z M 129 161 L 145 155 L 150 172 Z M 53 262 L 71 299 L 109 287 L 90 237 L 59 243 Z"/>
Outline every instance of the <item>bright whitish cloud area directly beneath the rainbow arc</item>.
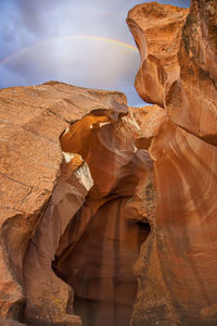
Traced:
<path fill-rule="evenodd" d="M 5 63 L 30 82 L 31 76 L 82 86 L 118 88 L 136 74 L 139 53 L 116 43 L 92 39 L 58 39 L 39 43 Z M 52 78 L 51 78 L 52 77 Z"/>

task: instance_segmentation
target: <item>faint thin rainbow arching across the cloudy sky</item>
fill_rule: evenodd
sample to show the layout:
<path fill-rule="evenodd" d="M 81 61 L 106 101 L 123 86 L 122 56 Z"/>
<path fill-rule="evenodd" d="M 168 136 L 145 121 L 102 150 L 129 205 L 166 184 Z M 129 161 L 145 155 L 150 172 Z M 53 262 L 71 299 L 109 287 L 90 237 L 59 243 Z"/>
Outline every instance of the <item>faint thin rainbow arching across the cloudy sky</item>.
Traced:
<path fill-rule="evenodd" d="M 29 51 L 33 51 L 33 50 L 35 50 L 35 49 L 37 49 L 41 46 L 44 46 L 47 43 L 54 42 L 54 41 L 62 41 L 62 40 L 71 40 L 71 39 L 80 39 L 80 40 L 90 39 L 90 40 L 95 40 L 95 41 L 104 41 L 104 42 L 108 42 L 108 43 L 113 43 L 113 45 L 124 47 L 126 50 L 138 52 L 138 49 L 136 47 L 130 46 L 130 45 L 125 43 L 125 42 L 122 42 L 117 39 L 102 37 L 102 36 L 93 36 L 93 35 L 68 35 L 68 36 L 63 36 L 63 37 L 55 37 L 55 38 L 46 39 L 46 40 L 42 40 L 42 41 L 40 41 L 36 45 L 33 45 L 30 47 L 26 47 L 26 48 L 22 49 L 21 51 L 17 51 L 17 52 L 11 54 L 8 58 L 4 58 L 2 61 L 0 61 L 0 65 L 3 65 L 4 63 L 10 62 L 11 60 L 13 60 L 17 57 L 20 57 L 22 54 L 25 54 Z"/>

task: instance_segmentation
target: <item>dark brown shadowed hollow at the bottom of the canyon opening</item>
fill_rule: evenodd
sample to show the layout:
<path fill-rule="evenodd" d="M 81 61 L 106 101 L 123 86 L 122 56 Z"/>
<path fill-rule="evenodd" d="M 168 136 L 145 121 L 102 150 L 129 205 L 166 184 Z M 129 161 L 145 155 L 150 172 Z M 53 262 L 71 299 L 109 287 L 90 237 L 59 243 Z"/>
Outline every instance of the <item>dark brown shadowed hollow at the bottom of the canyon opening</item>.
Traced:
<path fill-rule="evenodd" d="M 115 198 L 100 206 L 74 244 L 73 235 L 84 217 L 81 209 L 65 235 L 71 235 L 72 242 L 53 262 L 56 275 L 75 291 L 74 312 L 84 326 L 129 325 L 137 294 L 132 266 L 150 226 L 125 218 L 128 199 Z M 68 241 L 65 237 L 62 243 Z"/>

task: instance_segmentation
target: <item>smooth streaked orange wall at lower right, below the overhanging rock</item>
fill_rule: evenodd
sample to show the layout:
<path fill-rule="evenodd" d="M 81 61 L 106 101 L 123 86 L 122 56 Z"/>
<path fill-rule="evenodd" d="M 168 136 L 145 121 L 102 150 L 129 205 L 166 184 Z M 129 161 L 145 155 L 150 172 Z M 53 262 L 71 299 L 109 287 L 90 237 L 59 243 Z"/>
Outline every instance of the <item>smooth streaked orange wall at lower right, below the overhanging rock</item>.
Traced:
<path fill-rule="evenodd" d="M 131 325 L 215 325 L 217 149 L 167 121 L 149 152 L 151 233 L 136 265 Z"/>

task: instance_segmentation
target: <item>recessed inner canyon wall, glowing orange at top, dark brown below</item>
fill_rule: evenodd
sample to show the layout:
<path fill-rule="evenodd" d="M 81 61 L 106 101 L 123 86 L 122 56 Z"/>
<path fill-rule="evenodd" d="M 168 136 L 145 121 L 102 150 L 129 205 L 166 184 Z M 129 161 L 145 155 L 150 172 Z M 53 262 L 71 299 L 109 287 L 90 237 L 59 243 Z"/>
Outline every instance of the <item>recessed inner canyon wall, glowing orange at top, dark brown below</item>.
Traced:
<path fill-rule="evenodd" d="M 114 123 L 90 114 L 61 138 L 64 151 L 82 155 L 93 178 L 54 262 L 58 275 L 75 291 L 75 311 L 84 325 L 129 323 L 137 292 L 132 265 L 150 231 L 149 225 L 133 218 L 140 210 L 137 186 L 152 170 L 150 155 L 137 149 L 136 141 L 152 138 L 164 120 L 164 110 L 156 105 L 153 111 L 129 108 L 129 114 Z M 153 121 L 150 129 L 149 121 Z"/>

